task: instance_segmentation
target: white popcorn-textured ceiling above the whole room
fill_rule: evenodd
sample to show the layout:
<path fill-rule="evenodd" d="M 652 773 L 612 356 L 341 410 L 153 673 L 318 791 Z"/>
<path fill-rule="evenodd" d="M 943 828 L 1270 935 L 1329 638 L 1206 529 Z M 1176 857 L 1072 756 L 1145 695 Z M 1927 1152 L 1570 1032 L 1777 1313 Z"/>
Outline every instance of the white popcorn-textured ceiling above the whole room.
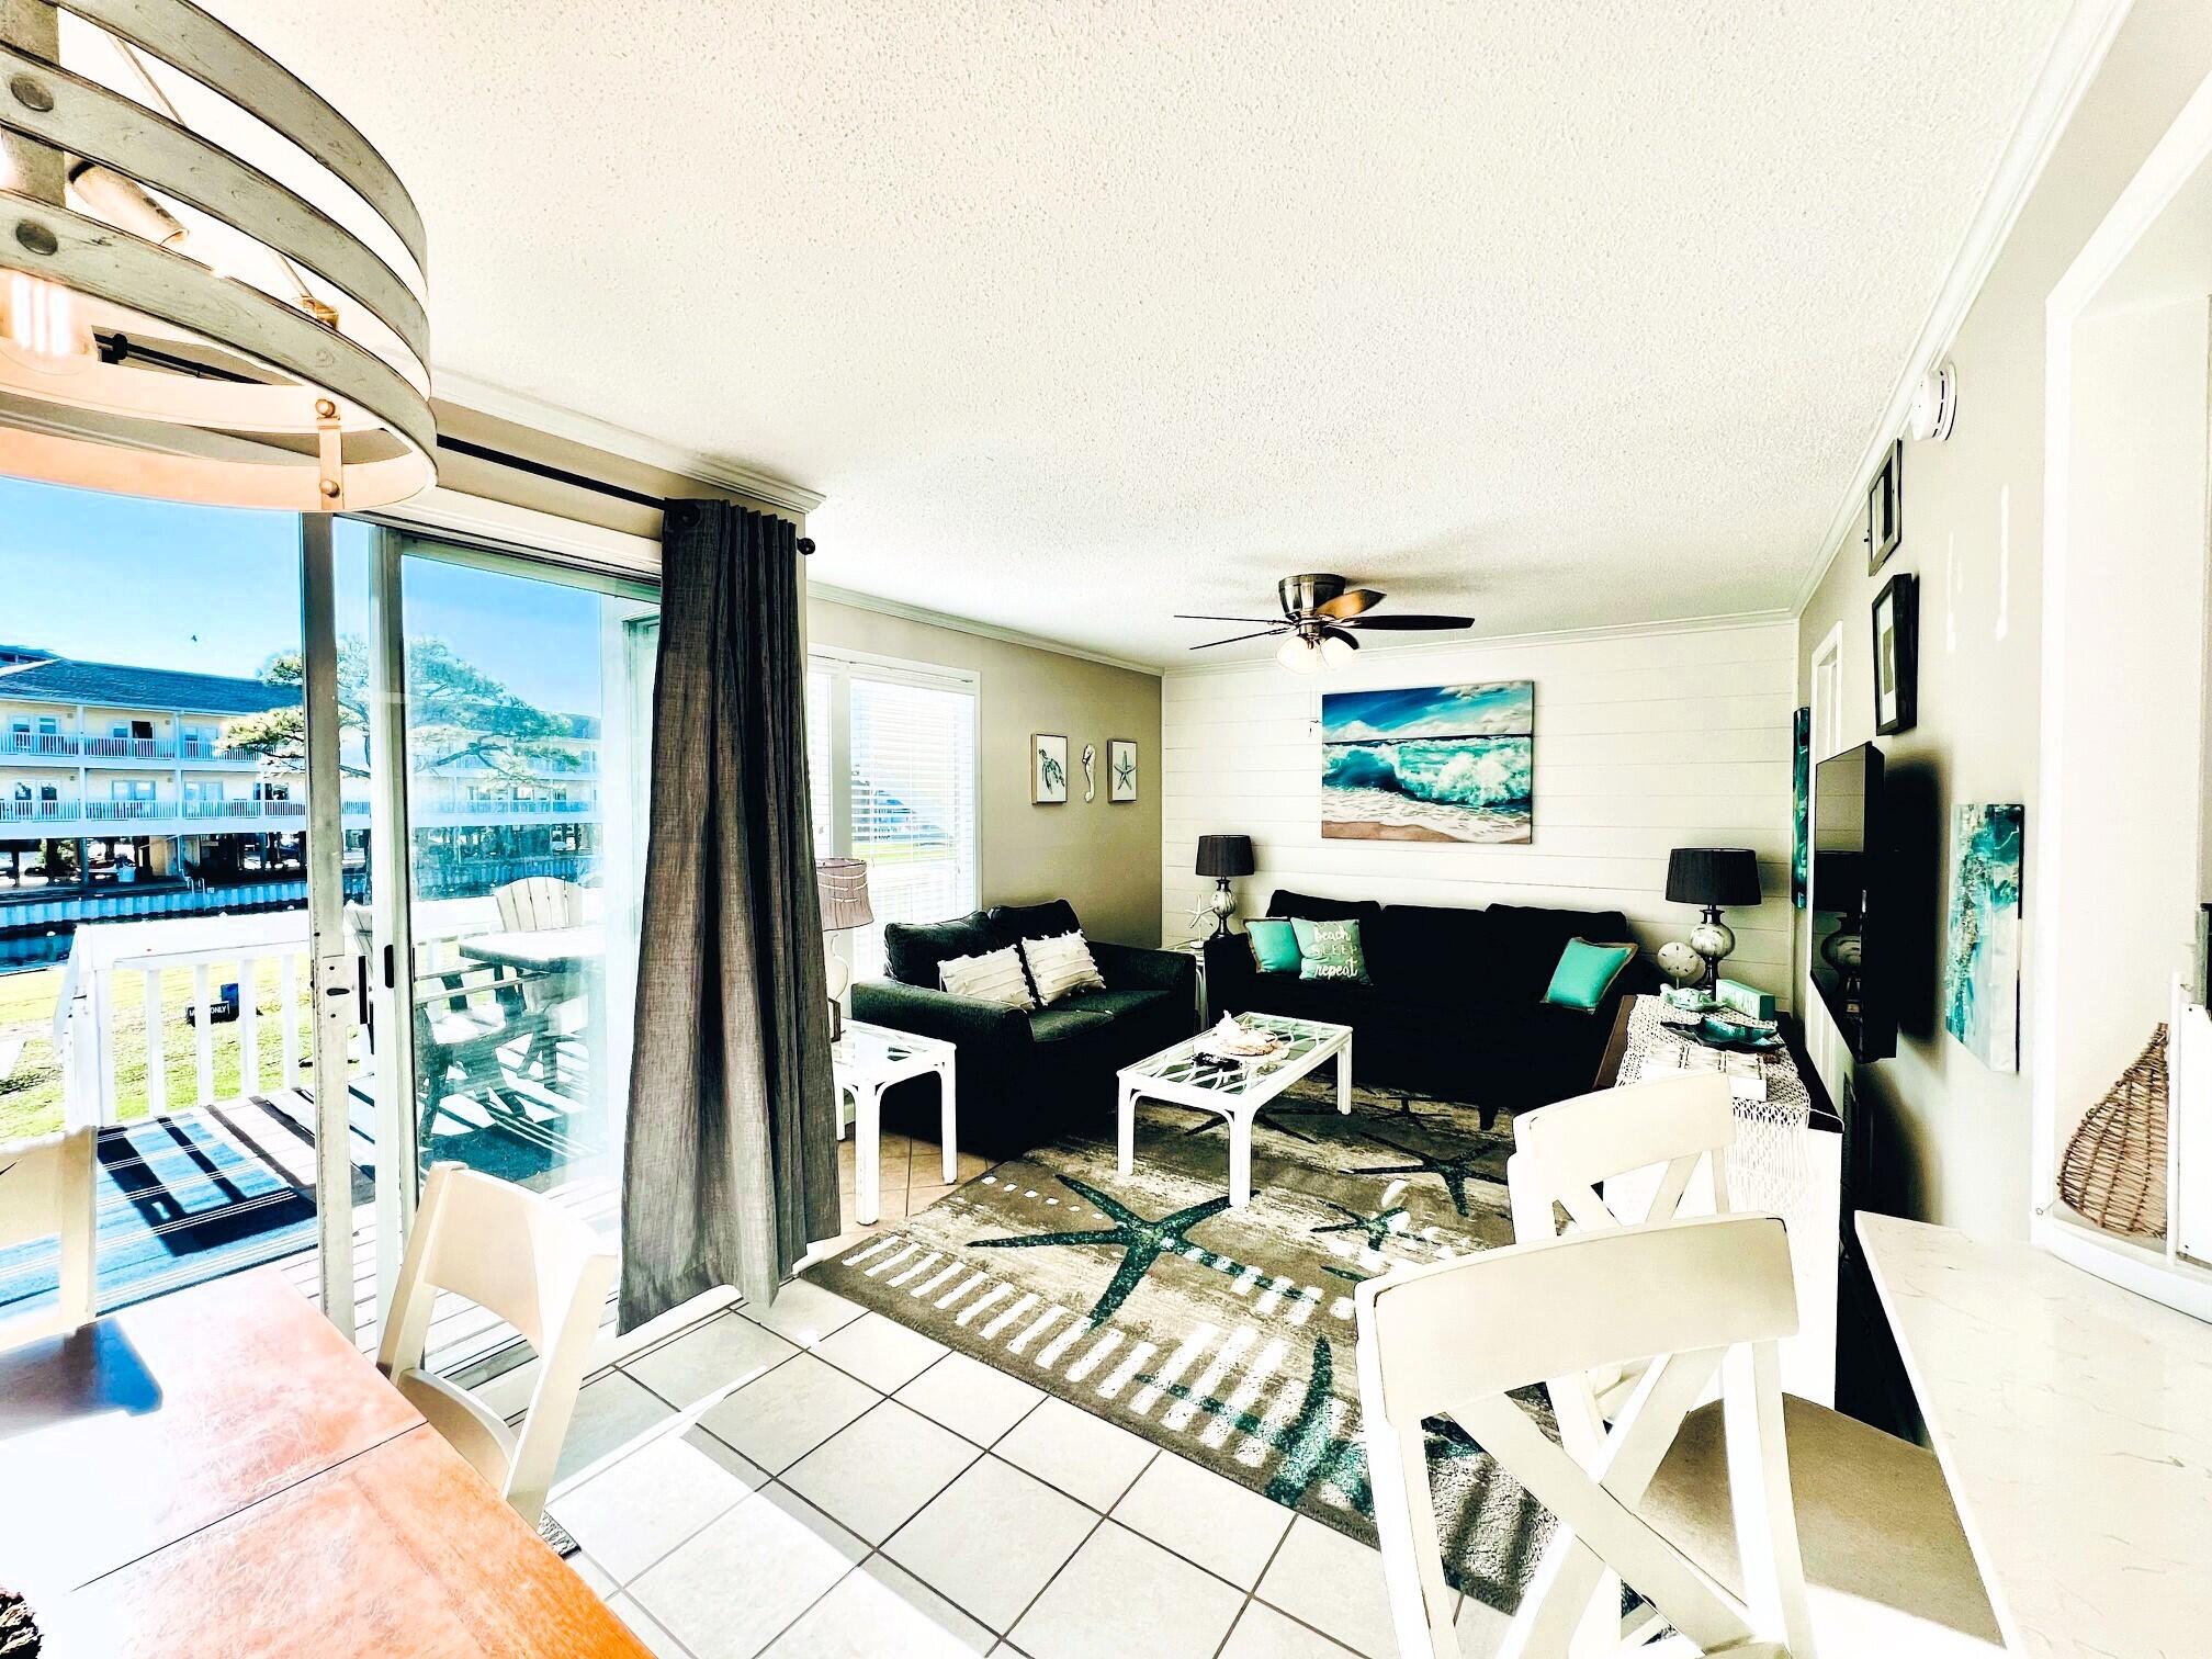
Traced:
<path fill-rule="evenodd" d="M 821 582 L 1186 661 L 1294 571 L 1787 604 L 2066 0 L 212 9 L 409 181 L 442 369 L 823 491 Z"/>

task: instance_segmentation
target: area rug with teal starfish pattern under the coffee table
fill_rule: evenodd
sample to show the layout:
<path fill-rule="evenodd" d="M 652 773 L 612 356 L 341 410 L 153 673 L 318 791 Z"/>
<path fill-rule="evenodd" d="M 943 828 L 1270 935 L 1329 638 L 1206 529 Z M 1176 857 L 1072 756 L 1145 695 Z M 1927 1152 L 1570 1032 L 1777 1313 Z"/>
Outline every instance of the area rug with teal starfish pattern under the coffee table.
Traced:
<path fill-rule="evenodd" d="M 1261 1110 L 1243 1210 L 1221 1117 L 1144 1102 L 1133 1175 L 1068 1137 L 803 1276 L 1374 1542 L 1352 1290 L 1511 1243 L 1513 1128 L 1371 1088 L 1340 1117 L 1334 1097 L 1307 1077 Z M 1548 1513 L 1451 1422 L 1429 1458 L 1453 1582 L 1511 1610 Z"/>

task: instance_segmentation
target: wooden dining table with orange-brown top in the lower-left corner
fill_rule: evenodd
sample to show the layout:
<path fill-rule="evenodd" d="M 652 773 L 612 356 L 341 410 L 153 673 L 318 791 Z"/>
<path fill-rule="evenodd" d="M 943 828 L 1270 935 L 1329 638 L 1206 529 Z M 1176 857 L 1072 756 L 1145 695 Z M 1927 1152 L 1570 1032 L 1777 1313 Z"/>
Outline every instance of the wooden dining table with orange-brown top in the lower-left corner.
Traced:
<path fill-rule="evenodd" d="M 0 1352 L 42 1659 L 650 1659 L 274 1270 Z"/>

